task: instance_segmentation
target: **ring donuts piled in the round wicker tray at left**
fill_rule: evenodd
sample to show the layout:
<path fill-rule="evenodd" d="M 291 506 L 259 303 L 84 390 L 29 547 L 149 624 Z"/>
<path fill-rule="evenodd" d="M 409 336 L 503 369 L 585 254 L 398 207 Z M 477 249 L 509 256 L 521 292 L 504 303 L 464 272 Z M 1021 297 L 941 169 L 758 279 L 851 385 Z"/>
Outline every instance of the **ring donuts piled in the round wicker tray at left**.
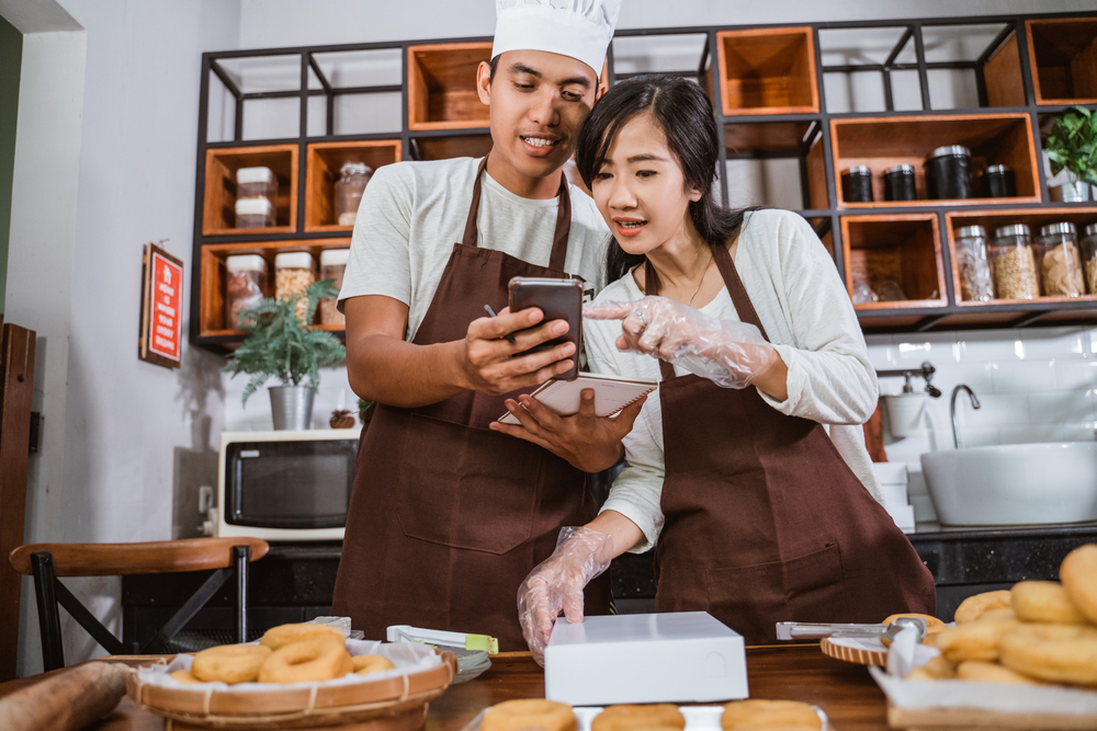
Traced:
<path fill-rule="evenodd" d="M 194 655 L 190 670 L 171 677 L 193 683 L 315 683 L 348 673 L 367 675 L 396 665 L 381 655 L 351 656 L 342 632 L 310 623 L 267 630 L 259 644 L 222 644 Z"/>

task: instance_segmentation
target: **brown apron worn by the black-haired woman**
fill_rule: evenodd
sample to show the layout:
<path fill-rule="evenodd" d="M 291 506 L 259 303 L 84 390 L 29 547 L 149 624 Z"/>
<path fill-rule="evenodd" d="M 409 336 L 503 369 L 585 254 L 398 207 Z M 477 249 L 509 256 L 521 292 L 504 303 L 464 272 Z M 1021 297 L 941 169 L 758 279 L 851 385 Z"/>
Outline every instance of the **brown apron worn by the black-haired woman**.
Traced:
<path fill-rule="evenodd" d="M 727 248 L 713 258 L 739 318 L 768 339 Z M 821 424 L 782 414 L 755 388 L 659 368 L 658 612 L 706 610 L 748 644 L 776 642 L 778 621 L 934 614 L 932 575 Z"/>

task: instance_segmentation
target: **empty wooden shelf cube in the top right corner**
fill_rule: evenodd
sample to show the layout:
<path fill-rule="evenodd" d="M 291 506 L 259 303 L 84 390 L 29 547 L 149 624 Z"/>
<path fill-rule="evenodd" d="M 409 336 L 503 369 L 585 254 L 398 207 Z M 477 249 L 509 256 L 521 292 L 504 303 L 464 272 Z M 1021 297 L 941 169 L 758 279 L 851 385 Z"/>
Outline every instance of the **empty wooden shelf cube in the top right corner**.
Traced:
<path fill-rule="evenodd" d="M 1037 104 L 1097 104 L 1097 18 L 1025 21 Z"/>

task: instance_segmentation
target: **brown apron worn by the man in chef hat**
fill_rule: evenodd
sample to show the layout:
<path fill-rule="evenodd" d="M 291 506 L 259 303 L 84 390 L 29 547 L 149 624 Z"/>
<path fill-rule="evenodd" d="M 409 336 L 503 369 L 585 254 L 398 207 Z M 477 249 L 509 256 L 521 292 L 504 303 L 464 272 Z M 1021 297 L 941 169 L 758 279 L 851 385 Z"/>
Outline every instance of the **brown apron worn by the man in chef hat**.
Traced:
<path fill-rule="evenodd" d="M 445 265 L 414 343 L 463 340 L 484 305 L 507 306 L 513 276 L 566 277 L 572 226 L 561 175 L 548 266 L 476 245 L 485 158 L 461 243 Z M 514 231 L 514 236 L 523 236 Z M 418 409 L 378 404 L 362 434 L 331 612 L 367 639 L 388 625 L 491 635 L 525 650 L 518 586 L 556 547 L 561 526 L 597 505 L 584 472 L 548 450 L 487 429 L 505 396 L 466 391 Z M 586 593 L 587 614 L 609 613 L 608 576 Z"/>

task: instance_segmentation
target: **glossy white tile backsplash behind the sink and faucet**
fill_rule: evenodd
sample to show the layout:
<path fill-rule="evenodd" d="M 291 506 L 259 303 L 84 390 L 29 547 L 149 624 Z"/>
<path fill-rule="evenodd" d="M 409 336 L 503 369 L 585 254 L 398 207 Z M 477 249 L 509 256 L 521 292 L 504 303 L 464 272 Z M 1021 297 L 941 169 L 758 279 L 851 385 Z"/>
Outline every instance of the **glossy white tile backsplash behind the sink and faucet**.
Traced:
<path fill-rule="evenodd" d="M 958 384 L 982 403 L 976 411 L 965 395 L 958 398 L 965 447 L 1095 438 L 1097 328 L 873 335 L 866 342 L 881 370 L 929 361 L 942 391 L 926 399 L 924 432 L 902 439 L 886 435 L 890 460 L 916 462 L 926 452 L 953 448 L 949 397 Z M 898 393 L 902 386 L 902 378 L 882 378 L 880 392 Z M 924 384 L 916 379 L 914 386 L 920 390 Z"/>

